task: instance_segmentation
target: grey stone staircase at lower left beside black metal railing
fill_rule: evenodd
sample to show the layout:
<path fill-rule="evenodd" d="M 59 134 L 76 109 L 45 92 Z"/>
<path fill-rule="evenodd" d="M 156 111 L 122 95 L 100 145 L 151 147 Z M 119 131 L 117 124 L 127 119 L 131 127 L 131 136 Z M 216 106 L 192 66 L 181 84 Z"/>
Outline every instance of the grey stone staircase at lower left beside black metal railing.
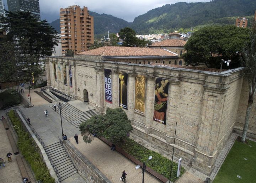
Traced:
<path fill-rule="evenodd" d="M 75 173 L 78 173 L 62 143 L 57 142 L 47 146 L 46 148 L 62 181 Z"/>

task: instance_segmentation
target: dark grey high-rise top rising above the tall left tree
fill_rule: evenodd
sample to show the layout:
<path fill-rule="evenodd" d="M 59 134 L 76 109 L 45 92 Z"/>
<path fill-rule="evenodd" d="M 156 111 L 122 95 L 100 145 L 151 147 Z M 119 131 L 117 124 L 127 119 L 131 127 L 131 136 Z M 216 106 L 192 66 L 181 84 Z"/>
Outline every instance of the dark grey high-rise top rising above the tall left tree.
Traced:
<path fill-rule="evenodd" d="M 40 20 L 39 0 L 7 0 L 9 11 L 31 11 Z"/>

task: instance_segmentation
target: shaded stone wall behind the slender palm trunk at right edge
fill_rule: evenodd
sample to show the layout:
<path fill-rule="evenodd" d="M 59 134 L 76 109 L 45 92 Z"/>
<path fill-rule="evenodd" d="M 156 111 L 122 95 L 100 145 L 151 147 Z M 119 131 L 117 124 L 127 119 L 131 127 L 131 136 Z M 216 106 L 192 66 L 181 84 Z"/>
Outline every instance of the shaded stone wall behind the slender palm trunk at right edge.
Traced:
<path fill-rule="evenodd" d="M 240 101 L 238 105 L 238 110 L 236 113 L 236 123 L 234 126 L 234 132 L 242 134 L 244 128 L 244 120 L 247 109 L 247 102 L 249 98 L 249 85 L 248 82 L 244 79 L 242 83 L 242 91 L 240 96 Z M 246 137 L 256 139 L 256 96 L 254 96 L 254 102 L 251 107 L 251 115 L 249 120 L 248 131 Z"/>

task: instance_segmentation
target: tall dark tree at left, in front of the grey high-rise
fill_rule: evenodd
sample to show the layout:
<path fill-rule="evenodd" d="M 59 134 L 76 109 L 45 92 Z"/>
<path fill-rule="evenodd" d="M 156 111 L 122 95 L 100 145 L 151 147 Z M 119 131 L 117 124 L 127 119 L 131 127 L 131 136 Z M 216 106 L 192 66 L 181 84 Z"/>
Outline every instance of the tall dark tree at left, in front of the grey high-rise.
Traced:
<path fill-rule="evenodd" d="M 31 12 L 9 12 L 6 17 L 0 17 L 2 29 L 7 32 L 4 42 L 15 44 L 15 61 L 24 78 L 31 79 L 42 73 L 39 61 L 44 56 L 52 55 L 54 45 L 57 45 L 57 32 L 49 26 L 46 20 L 38 21 Z M 10 52 L 10 50 L 6 50 Z M 14 61 L 14 60 L 11 60 Z M 21 64 L 22 63 L 22 64 Z M 9 70 L 18 73 L 18 70 Z"/>

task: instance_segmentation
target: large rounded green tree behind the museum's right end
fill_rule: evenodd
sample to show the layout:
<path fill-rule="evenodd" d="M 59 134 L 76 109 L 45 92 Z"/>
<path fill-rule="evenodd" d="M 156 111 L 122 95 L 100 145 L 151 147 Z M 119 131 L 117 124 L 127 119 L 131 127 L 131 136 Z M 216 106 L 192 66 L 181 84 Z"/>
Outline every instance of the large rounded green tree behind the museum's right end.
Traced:
<path fill-rule="evenodd" d="M 195 32 L 185 44 L 185 62 L 192 65 L 206 63 L 208 67 L 219 68 L 221 59 L 230 59 L 229 68 L 239 67 L 240 52 L 244 41 L 249 40 L 249 31 L 235 26 L 204 27 Z"/>

